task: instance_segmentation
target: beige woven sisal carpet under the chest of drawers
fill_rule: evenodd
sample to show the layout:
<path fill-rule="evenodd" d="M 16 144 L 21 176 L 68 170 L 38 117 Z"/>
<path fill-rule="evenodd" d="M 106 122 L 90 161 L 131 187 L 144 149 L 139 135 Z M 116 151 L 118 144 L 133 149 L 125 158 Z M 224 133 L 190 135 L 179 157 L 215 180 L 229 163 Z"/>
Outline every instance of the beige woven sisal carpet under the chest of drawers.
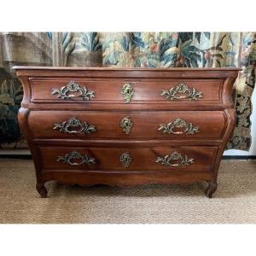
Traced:
<path fill-rule="evenodd" d="M 212 199 L 205 183 L 132 189 L 46 184 L 35 189 L 32 160 L 0 159 L 0 223 L 256 224 L 256 161 L 223 160 Z"/>

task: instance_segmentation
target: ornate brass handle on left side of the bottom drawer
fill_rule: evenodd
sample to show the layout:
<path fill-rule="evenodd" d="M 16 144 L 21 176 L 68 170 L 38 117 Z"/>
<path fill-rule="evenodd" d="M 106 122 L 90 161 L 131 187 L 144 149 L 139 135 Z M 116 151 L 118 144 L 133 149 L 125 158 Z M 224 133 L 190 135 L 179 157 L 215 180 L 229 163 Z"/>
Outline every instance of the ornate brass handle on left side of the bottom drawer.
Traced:
<path fill-rule="evenodd" d="M 79 162 L 73 160 L 79 160 Z M 68 164 L 70 166 L 80 166 L 83 164 L 90 166 L 96 164 L 96 160 L 94 158 L 87 154 L 82 155 L 76 150 L 74 150 L 72 153 L 58 156 L 57 161 L 62 161 L 64 164 Z"/>

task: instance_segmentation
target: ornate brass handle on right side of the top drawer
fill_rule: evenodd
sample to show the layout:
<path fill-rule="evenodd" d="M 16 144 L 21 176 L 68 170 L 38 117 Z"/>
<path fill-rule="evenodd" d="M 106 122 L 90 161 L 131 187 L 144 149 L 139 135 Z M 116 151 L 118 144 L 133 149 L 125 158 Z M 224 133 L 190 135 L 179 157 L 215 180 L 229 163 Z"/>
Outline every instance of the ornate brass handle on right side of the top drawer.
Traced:
<path fill-rule="evenodd" d="M 202 92 L 195 90 L 194 87 L 189 88 L 187 84 L 180 83 L 176 87 L 172 87 L 169 90 L 162 90 L 160 96 L 166 96 L 166 100 L 182 100 L 189 99 L 190 101 L 197 101 L 198 98 L 202 98 Z"/>

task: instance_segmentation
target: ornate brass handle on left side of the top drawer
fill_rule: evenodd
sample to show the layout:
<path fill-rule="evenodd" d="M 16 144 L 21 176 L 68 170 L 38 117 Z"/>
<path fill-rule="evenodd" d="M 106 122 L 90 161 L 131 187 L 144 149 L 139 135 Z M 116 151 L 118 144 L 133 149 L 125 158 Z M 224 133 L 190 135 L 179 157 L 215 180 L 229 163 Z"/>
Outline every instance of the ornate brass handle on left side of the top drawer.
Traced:
<path fill-rule="evenodd" d="M 62 100 L 70 100 L 73 97 L 78 97 L 75 94 L 69 94 L 72 92 L 78 92 L 79 93 L 78 96 L 81 96 L 84 101 L 89 101 L 92 98 L 95 98 L 94 91 L 87 90 L 86 87 L 81 87 L 75 81 L 70 81 L 67 85 L 62 86 L 60 89 L 52 89 L 51 90 L 52 95 L 57 95 L 57 97 L 61 98 Z"/>

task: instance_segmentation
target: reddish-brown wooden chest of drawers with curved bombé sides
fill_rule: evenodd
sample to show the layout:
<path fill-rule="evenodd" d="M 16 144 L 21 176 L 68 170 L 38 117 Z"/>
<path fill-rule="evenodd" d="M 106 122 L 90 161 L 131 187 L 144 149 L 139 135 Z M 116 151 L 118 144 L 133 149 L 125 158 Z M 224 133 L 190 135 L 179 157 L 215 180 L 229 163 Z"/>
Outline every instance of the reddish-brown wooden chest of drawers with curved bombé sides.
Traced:
<path fill-rule="evenodd" d="M 238 69 L 14 67 L 19 123 L 44 183 L 131 186 L 206 181 L 235 125 Z"/>

